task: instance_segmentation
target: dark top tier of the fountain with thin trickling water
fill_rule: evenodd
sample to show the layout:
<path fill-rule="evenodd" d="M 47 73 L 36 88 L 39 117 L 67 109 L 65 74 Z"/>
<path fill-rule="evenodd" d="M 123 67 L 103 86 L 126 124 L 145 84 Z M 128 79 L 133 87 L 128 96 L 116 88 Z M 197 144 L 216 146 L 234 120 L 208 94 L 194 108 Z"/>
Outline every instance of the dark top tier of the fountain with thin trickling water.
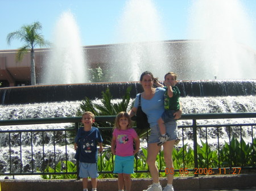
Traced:
<path fill-rule="evenodd" d="M 113 99 L 125 95 L 131 86 L 131 97 L 142 92 L 139 82 L 81 83 L 48 86 L 25 86 L 0 88 L 1 104 L 47 103 L 55 101 L 76 101 L 84 97 L 97 99 L 109 88 Z M 184 80 L 176 86 L 181 96 L 246 96 L 256 95 L 256 80 Z M 31 94 L 33 92 L 33 94 Z"/>

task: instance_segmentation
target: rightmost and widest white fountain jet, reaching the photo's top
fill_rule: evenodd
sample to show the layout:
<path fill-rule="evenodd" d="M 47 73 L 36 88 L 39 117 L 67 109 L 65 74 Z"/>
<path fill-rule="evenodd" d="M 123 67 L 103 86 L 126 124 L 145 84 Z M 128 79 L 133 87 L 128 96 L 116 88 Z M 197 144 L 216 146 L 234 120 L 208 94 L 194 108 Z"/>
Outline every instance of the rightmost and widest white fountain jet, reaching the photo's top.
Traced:
<path fill-rule="evenodd" d="M 256 33 L 238 0 L 199 0 L 191 7 L 191 39 L 201 40 L 191 49 L 193 79 L 255 78 Z M 193 61 L 195 59 L 195 61 Z M 197 74 L 197 75 L 195 75 Z"/>

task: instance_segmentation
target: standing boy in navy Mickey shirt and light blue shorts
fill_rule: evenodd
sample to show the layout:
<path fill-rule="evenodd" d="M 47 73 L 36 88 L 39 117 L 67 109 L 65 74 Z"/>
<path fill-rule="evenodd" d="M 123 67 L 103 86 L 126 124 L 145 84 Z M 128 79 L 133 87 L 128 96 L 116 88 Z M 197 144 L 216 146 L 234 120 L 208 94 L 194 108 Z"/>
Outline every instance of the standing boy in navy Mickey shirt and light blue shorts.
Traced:
<path fill-rule="evenodd" d="M 92 190 L 96 191 L 98 171 L 97 171 L 97 142 L 100 146 L 99 151 L 103 151 L 100 131 L 92 126 L 94 122 L 92 112 L 82 114 L 83 127 L 79 128 L 75 138 L 75 150 L 78 149 L 79 157 L 79 176 L 82 178 L 83 191 L 88 191 L 88 177 L 92 181 Z"/>

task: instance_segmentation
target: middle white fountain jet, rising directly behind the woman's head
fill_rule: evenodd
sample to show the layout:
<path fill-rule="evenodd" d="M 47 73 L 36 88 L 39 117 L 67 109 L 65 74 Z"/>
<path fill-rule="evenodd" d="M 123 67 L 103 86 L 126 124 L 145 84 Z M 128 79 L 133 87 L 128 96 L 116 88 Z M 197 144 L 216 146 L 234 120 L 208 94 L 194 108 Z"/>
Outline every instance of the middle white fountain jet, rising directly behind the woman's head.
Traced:
<path fill-rule="evenodd" d="M 158 77 L 168 71 L 166 50 L 156 42 L 164 35 L 155 7 L 151 0 L 127 1 L 117 28 L 119 41 L 127 44 L 117 46 L 114 52 L 112 82 L 137 81 L 146 70 Z"/>

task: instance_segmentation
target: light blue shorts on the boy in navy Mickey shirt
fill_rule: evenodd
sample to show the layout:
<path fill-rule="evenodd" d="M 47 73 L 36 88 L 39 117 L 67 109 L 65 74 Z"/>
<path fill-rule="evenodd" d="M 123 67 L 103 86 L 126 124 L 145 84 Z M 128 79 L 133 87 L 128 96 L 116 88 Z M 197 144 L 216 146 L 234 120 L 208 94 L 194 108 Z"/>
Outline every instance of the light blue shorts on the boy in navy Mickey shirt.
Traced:
<path fill-rule="evenodd" d="M 97 178 L 98 171 L 97 171 L 97 164 L 96 163 L 79 163 L 79 176 L 81 178 Z"/>

